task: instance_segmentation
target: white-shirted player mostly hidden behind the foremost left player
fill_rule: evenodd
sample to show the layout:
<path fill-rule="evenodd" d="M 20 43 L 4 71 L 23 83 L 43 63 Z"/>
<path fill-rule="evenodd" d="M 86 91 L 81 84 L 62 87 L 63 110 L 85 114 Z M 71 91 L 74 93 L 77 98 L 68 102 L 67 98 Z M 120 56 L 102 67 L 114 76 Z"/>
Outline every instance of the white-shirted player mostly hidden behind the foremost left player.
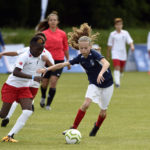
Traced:
<path fill-rule="evenodd" d="M 46 37 L 43 33 L 39 32 L 37 33 L 35 36 L 40 36 L 43 38 L 44 41 L 46 41 Z M 0 58 L 2 56 L 18 56 L 18 55 L 21 55 L 27 51 L 29 51 L 30 47 L 25 47 L 25 48 L 22 48 L 22 49 L 19 49 L 17 51 L 6 51 L 6 52 L 1 52 L 0 53 Z M 45 64 L 47 64 L 48 66 L 51 66 L 54 64 L 54 60 L 52 58 L 52 55 L 50 54 L 50 52 L 48 52 L 45 48 L 41 54 L 41 63 L 39 62 L 38 64 L 38 68 L 40 67 L 44 67 Z M 38 74 L 37 74 L 38 75 Z M 36 96 L 37 92 L 38 92 L 38 88 L 40 86 L 40 83 L 36 82 L 36 81 L 31 81 L 31 84 L 30 84 L 30 90 L 33 94 L 33 99 L 34 97 Z M 33 102 L 34 103 L 34 100 Z M 6 118 L 4 118 L 1 122 L 1 127 L 6 127 L 7 124 L 9 123 L 9 120 L 11 118 L 11 116 L 13 115 L 16 107 L 17 107 L 18 103 L 17 102 L 13 102 L 12 106 L 11 106 L 11 109 L 8 113 L 8 115 L 6 116 Z M 32 104 L 32 110 L 34 111 L 34 105 Z"/>

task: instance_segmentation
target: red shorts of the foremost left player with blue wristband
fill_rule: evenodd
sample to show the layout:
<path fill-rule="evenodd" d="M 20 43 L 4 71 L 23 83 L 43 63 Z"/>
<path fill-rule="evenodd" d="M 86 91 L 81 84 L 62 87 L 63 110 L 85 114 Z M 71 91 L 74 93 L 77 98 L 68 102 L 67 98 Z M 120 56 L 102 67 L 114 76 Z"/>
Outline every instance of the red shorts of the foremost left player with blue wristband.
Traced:
<path fill-rule="evenodd" d="M 5 83 L 1 90 L 2 101 L 6 103 L 19 102 L 22 98 L 33 98 L 29 87 L 17 88 Z"/>

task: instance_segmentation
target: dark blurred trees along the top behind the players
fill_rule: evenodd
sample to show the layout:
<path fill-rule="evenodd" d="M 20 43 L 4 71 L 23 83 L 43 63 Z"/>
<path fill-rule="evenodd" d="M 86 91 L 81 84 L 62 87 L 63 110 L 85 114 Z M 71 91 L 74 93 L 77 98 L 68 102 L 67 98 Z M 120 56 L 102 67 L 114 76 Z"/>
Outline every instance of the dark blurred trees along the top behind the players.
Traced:
<path fill-rule="evenodd" d="M 48 0 L 46 15 L 59 12 L 62 27 L 88 22 L 93 28 L 108 29 L 115 17 L 126 27 L 150 26 L 150 0 Z M 39 22 L 41 0 L 0 0 L 0 27 L 33 28 Z"/>

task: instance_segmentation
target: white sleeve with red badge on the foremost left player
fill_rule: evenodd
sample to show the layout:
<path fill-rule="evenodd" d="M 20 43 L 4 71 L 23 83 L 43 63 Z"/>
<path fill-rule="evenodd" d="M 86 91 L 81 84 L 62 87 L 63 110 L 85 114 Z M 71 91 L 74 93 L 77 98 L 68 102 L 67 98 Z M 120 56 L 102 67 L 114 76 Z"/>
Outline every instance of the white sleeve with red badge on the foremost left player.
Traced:
<path fill-rule="evenodd" d="M 23 69 L 27 60 L 28 60 L 28 58 L 26 57 L 26 55 L 24 55 L 24 54 L 20 55 L 16 64 L 15 64 L 15 67 Z"/>

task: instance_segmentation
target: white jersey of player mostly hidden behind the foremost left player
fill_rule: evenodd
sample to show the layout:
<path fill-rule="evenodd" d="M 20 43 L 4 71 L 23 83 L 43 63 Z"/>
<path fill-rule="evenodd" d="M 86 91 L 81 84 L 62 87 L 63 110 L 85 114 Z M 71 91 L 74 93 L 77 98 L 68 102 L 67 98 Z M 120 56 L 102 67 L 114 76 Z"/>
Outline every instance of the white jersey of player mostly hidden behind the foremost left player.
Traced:
<path fill-rule="evenodd" d="M 17 51 L 17 54 L 20 55 L 20 54 L 23 54 L 23 53 L 25 53 L 25 52 L 27 52 L 27 51 L 29 51 L 29 50 L 30 50 L 30 47 L 25 47 L 25 48 L 22 48 L 22 49 L 18 50 L 18 51 Z M 43 55 L 46 55 L 46 56 L 48 57 L 49 61 L 50 61 L 52 64 L 54 64 L 54 59 L 53 59 L 52 55 L 50 54 L 49 51 L 47 51 L 47 50 L 44 48 L 44 50 L 43 50 L 43 52 L 42 52 L 42 54 L 41 54 L 41 56 L 40 56 L 41 59 L 40 59 L 38 65 L 36 66 L 37 69 L 41 69 L 41 68 L 43 68 L 43 67 L 45 66 L 45 62 L 42 60 L 42 56 L 43 56 Z M 34 75 L 34 76 L 41 76 L 41 74 L 38 74 L 38 73 L 36 73 L 36 72 L 35 72 L 35 74 L 33 74 L 33 75 Z M 39 88 L 39 86 L 40 86 L 40 83 L 38 83 L 38 82 L 36 82 L 36 81 L 33 81 L 33 80 L 30 81 L 30 87 Z"/>

